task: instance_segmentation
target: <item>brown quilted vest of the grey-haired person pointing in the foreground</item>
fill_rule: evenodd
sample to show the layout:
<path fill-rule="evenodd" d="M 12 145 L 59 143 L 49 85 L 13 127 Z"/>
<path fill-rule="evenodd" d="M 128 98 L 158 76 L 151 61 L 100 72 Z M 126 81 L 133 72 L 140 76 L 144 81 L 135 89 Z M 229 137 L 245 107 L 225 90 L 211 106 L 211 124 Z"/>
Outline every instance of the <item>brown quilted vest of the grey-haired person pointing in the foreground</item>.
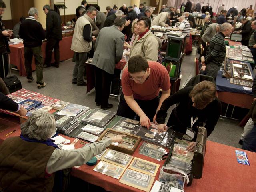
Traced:
<path fill-rule="evenodd" d="M 0 145 L 0 191 L 51 192 L 54 174 L 46 178 L 46 165 L 54 150 L 20 137 L 6 139 Z"/>

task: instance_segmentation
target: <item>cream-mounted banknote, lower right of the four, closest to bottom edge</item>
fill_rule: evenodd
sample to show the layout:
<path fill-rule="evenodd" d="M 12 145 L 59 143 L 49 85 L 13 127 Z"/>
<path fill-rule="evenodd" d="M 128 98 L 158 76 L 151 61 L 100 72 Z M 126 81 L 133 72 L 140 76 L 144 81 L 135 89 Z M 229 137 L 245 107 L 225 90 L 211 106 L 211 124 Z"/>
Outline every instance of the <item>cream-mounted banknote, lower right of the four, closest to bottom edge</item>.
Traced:
<path fill-rule="evenodd" d="M 154 179 L 153 176 L 127 168 L 119 182 L 149 192 Z"/>

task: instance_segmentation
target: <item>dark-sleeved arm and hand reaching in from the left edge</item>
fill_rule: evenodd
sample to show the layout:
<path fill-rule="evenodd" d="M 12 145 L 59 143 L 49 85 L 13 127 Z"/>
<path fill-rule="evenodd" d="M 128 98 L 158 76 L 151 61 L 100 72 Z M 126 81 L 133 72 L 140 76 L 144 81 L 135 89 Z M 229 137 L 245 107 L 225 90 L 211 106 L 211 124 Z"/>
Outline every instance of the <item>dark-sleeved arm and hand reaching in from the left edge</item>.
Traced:
<path fill-rule="evenodd" d="M 24 107 L 4 95 L 2 92 L 0 92 L 0 109 L 14 111 L 20 116 L 24 116 L 27 113 L 27 110 Z"/>

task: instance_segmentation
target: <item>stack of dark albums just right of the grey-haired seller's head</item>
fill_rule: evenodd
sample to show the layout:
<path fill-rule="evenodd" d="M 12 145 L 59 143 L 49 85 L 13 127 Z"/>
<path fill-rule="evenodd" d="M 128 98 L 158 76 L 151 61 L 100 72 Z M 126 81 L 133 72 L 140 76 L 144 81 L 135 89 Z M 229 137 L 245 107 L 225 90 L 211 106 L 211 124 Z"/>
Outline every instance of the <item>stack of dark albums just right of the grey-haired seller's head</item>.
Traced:
<path fill-rule="evenodd" d="M 80 123 L 77 118 L 66 115 L 60 115 L 56 118 L 56 128 L 58 132 L 63 134 L 71 133 Z"/>

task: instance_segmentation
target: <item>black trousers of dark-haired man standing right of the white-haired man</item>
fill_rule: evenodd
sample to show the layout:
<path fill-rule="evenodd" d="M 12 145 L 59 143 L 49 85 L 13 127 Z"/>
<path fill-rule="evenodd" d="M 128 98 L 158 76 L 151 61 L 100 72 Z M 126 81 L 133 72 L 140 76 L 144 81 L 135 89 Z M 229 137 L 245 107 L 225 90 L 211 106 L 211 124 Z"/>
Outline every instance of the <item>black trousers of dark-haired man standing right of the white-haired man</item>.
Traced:
<path fill-rule="evenodd" d="M 50 65 L 52 60 L 52 50 L 54 49 L 54 65 L 58 66 L 60 64 L 60 40 L 54 38 L 48 38 L 46 48 L 45 48 L 45 65 Z"/>

